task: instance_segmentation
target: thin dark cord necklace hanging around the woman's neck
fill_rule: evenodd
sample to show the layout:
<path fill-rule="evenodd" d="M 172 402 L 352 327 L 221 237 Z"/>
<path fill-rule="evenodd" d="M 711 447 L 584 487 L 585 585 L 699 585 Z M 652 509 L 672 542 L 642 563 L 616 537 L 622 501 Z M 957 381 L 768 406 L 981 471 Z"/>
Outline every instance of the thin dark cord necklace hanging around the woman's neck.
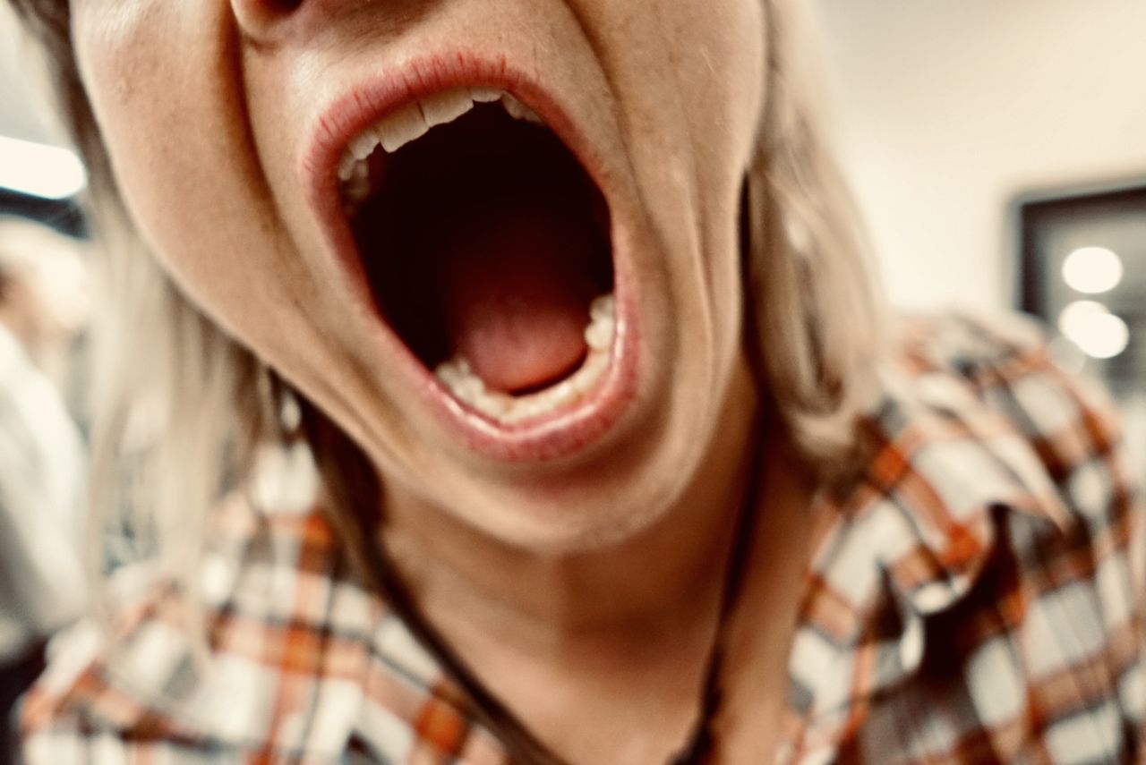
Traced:
<path fill-rule="evenodd" d="M 758 429 L 759 433 L 759 429 Z M 759 447 L 749 454 L 759 455 Z M 756 460 L 759 462 L 759 460 Z M 748 479 L 748 486 L 738 512 L 732 550 L 724 573 L 724 590 L 721 597 L 716 634 L 705 667 L 704 687 L 700 696 L 700 712 L 685 746 L 672 756 L 667 765 L 702 765 L 712 754 L 715 743 L 713 725 L 723 701 L 721 669 L 724 658 L 724 641 L 729 616 L 736 607 L 744 582 L 748 549 L 759 515 L 762 479 L 758 467 Z M 355 513 L 362 523 L 362 557 L 374 578 L 374 585 L 386 598 L 387 605 L 405 622 L 407 629 L 438 660 L 446 673 L 466 694 L 474 719 L 481 723 L 505 747 L 510 760 L 520 765 L 568 765 L 534 736 L 505 705 L 477 678 L 469 665 L 449 646 L 441 633 L 422 615 L 414 602 L 409 589 L 398 576 L 397 569 L 386 555 L 380 539 L 367 528 L 367 519 L 372 514 Z"/>

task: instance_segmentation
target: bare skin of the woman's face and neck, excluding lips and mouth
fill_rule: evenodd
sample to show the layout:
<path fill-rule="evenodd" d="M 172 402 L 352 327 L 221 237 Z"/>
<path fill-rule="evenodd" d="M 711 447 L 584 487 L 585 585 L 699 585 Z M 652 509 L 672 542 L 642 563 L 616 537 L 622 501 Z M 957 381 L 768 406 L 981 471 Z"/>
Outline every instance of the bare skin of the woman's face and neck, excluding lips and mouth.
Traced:
<path fill-rule="evenodd" d="M 429 617 L 560 754 L 666 757 L 696 715 L 749 475 L 775 473 L 760 534 L 791 544 L 755 553 L 749 578 L 784 594 L 738 623 L 790 621 L 806 547 L 792 522 L 807 496 L 799 472 L 753 449 L 741 349 L 737 213 L 766 97 L 759 0 L 72 5 L 139 231 L 204 313 L 372 458 L 382 542 Z M 633 238 L 638 395 L 560 460 L 481 457 L 431 418 L 379 352 L 378 318 L 355 307 L 298 180 L 319 104 L 457 46 L 504 53 L 560 95 Z M 763 632 L 754 645 L 776 647 L 736 652 L 730 676 L 779 688 L 787 632 Z M 749 696 L 740 711 L 776 705 Z M 735 720 L 725 735 L 744 741 L 728 751 L 768 749 L 770 726 L 746 734 Z"/>

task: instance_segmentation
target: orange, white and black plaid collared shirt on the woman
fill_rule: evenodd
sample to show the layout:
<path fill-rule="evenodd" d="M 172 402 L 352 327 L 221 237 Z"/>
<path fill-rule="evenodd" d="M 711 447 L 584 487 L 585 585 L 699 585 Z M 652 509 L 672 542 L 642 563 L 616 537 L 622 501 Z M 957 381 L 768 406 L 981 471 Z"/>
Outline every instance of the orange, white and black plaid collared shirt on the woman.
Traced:
<path fill-rule="evenodd" d="M 1012 324 L 905 329 L 866 468 L 816 499 L 777 762 L 1146 762 L 1115 415 Z M 236 499 L 217 523 L 198 601 L 160 585 L 110 638 L 69 638 L 24 705 L 30 764 L 504 759 L 320 513 Z"/>

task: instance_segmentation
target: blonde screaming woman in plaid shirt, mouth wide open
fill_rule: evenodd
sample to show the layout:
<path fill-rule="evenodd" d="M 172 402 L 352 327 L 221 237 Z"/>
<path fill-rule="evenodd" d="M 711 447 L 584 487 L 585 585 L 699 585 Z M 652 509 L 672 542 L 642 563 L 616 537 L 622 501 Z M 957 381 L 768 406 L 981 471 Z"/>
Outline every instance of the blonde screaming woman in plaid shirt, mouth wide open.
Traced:
<path fill-rule="evenodd" d="M 30 762 L 1140 751 L 1109 410 L 1025 325 L 878 332 L 794 2 L 16 5 L 173 561 Z"/>

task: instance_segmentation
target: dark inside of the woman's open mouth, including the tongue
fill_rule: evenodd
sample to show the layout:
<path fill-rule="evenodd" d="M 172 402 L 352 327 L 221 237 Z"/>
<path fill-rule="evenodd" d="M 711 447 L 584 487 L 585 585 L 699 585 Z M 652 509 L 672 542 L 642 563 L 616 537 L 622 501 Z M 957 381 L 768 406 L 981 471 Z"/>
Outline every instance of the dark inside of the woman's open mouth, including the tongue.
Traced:
<path fill-rule="evenodd" d="M 422 363 L 462 357 L 511 395 L 575 371 L 613 261 L 604 198 L 560 140 L 478 104 L 384 163 L 352 228 L 380 314 Z"/>

